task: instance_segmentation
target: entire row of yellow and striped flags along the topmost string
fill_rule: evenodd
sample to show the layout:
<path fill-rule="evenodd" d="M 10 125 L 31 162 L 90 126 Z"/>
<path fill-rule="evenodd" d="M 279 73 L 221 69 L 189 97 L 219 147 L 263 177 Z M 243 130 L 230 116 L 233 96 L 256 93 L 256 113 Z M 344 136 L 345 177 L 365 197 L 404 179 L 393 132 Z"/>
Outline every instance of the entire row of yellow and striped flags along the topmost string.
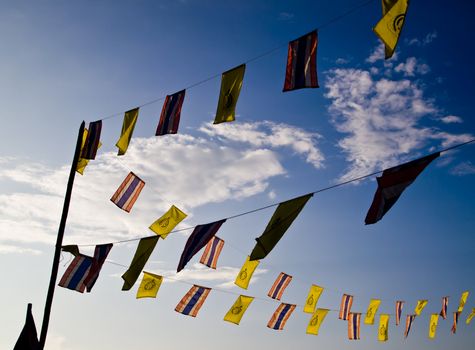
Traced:
<path fill-rule="evenodd" d="M 385 58 L 392 57 L 399 40 L 409 0 L 382 0 L 383 17 L 373 28 L 385 46 Z M 283 91 L 303 88 L 318 88 L 317 78 L 317 45 L 318 32 L 314 30 L 292 40 L 288 45 L 287 65 Z M 235 120 L 235 110 L 243 84 L 246 65 L 241 64 L 222 73 L 221 89 L 214 124 Z M 155 132 L 156 136 L 176 134 L 180 124 L 181 109 L 185 100 L 186 90 L 167 95 L 160 114 Z M 139 116 L 139 107 L 125 112 L 120 137 L 116 143 L 118 155 L 127 152 L 135 125 Z M 100 136 L 102 120 L 89 123 L 82 141 L 82 151 L 77 171 L 84 173 L 89 160 L 95 159 L 101 146 Z"/>

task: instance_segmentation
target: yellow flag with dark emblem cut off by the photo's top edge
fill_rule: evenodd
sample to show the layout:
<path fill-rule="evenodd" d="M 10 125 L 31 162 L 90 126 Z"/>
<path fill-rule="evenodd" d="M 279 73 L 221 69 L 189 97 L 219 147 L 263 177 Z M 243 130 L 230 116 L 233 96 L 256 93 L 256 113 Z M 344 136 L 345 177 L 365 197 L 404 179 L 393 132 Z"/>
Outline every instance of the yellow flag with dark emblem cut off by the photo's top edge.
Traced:
<path fill-rule="evenodd" d="M 373 28 L 383 41 L 385 58 L 391 58 L 406 19 L 409 0 L 383 0 L 383 18 Z"/>

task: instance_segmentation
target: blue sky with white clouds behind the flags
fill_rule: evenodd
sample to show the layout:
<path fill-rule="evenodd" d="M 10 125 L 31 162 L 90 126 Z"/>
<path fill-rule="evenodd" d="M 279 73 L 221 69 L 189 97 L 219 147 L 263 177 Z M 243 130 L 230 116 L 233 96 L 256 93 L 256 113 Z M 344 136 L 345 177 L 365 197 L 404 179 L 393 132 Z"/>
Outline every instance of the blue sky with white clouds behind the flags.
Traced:
<path fill-rule="evenodd" d="M 395 57 L 384 61 L 371 27 L 378 1 L 319 32 L 320 89 L 282 93 L 286 43 L 354 7 L 324 1 L 18 1 L 0 4 L 0 264 L 4 285 L 0 347 L 12 348 L 28 302 L 39 331 L 53 245 L 75 138 L 82 120 L 104 121 L 103 146 L 76 177 L 65 244 L 96 244 L 151 234 L 171 204 L 206 223 L 287 200 L 474 138 L 469 16 L 474 5 L 410 4 Z M 124 111 L 237 66 L 246 67 L 237 120 L 213 126 L 219 78 L 187 91 L 178 135 L 154 137 L 162 102 L 141 109 L 127 154 L 118 159 Z M 376 183 L 361 181 L 315 195 L 243 294 L 255 300 L 240 326 L 222 321 L 242 291 L 232 285 L 273 209 L 226 222 L 216 271 L 199 264 L 173 275 L 185 234 L 160 241 L 146 270 L 217 287 L 196 319 L 174 308 L 189 289 L 165 281 L 157 299 L 122 292 L 124 268 L 107 263 L 92 293 L 57 288 L 47 348 L 287 349 L 290 346 L 375 349 L 466 349 L 473 324 L 456 336 L 440 320 L 427 338 L 430 314 L 449 295 L 449 312 L 465 290 L 475 293 L 474 148 L 444 154 L 372 226 L 364 225 Z M 132 212 L 109 198 L 133 170 L 146 186 Z M 115 245 L 112 262 L 128 265 L 136 243 Z M 90 247 L 82 248 L 91 253 Z M 69 261 L 60 265 L 60 276 Z M 309 315 L 297 308 L 284 331 L 266 327 L 278 303 L 266 293 L 279 272 L 294 276 L 286 302 L 302 304 L 310 284 L 326 289 L 319 306 L 337 309 L 343 293 L 354 311 L 380 298 L 381 312 L 403 314 L 428 299 L 412 333 L 390 320 L 389 341 L 376 326 L 347 340 L 331 312 L 320 335 L 305 334 Z M 269 299 L 269 300 L 265 300 Z M 7 322 L 8 321 L 8 322 Z M 183 334 L 186 333 L 186 337 Z"/>

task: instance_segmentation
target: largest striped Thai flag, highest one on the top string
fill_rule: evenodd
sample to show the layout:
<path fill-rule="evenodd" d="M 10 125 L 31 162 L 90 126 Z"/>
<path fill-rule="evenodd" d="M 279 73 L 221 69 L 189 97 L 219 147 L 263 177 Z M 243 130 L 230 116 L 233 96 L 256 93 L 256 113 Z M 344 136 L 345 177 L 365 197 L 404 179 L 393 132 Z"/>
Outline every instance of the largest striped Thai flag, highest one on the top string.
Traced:
<path fill-rule="evenodd" d="M 316 30 L 289 42 L 284 92 L 318 87 L 317 45 Z"/>

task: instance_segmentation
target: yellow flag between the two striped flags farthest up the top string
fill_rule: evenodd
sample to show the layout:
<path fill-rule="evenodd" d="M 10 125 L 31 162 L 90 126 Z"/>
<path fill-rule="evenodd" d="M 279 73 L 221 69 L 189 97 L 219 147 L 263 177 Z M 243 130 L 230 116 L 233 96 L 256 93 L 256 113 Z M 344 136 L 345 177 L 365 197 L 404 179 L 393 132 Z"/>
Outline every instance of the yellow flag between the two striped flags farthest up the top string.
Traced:
<path fill-rule="evenodd" d="M 232 122 L 235 119 L 235 110 L 246 65 L 224 72 L 221 78 L 221 91 L 219 93 L 218 109 L 213 124 Z"/>

